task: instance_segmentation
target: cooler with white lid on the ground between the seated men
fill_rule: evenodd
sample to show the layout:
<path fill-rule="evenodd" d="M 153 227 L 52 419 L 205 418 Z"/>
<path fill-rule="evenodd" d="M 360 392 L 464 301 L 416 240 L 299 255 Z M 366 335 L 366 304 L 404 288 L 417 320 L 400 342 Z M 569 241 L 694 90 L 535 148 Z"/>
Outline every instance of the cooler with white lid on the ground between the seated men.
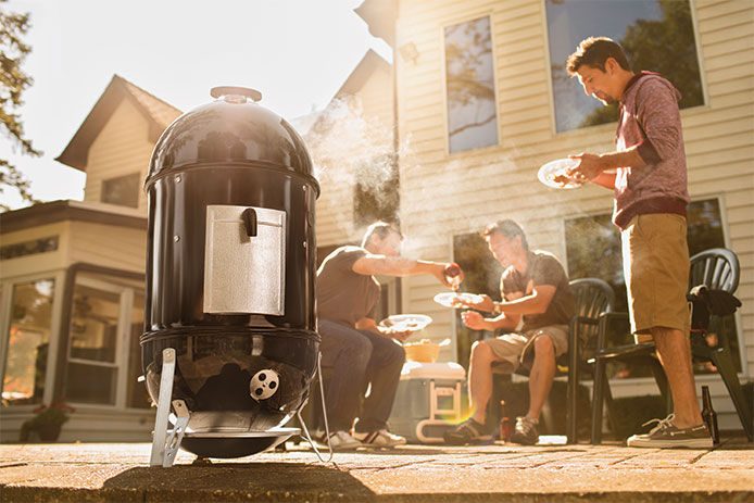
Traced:
<path fill-rule="evenodd" d="M 388 419 L 393 433 L 413 443 L 442 442 L 461 422 L 461 389 L 466 370 L 457 363 L 406 362 Z"/>

